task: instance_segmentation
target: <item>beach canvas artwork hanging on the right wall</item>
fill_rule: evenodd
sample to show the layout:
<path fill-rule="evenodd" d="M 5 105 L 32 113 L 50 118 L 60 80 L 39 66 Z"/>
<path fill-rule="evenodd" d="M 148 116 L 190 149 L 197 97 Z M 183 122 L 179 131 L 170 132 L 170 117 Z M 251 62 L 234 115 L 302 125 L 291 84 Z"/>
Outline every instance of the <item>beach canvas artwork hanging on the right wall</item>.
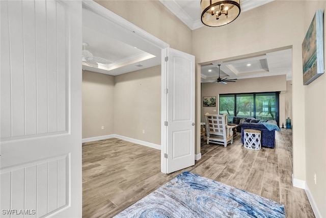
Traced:
<path fill-rule="evenodd" d="M 324 72 L 322 19 L 322 10 L 318 10 L 302 43 L 304 85 L 308 85 Z"/>

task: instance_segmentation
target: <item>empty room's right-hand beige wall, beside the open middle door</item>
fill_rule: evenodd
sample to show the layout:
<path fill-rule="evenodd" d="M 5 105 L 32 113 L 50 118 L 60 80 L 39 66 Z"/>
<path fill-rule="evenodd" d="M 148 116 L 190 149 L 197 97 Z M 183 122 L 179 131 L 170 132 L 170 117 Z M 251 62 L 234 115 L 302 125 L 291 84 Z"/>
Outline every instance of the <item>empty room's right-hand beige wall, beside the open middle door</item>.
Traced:
<path fill-rule="evenodd" d="M 160 82 L 160 66 L 115 77 L 115 134 L 161 144 Z"/>

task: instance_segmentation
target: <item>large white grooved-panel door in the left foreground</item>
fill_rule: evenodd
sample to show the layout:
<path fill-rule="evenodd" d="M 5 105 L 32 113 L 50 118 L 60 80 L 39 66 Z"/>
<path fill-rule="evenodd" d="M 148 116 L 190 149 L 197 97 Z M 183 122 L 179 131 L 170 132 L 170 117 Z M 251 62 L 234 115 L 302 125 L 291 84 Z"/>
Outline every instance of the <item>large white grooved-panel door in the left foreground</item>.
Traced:
<path fill-rule="evenodd" d="M 82 217 L 82 2 L 0 7 L 1 217 Z"/>

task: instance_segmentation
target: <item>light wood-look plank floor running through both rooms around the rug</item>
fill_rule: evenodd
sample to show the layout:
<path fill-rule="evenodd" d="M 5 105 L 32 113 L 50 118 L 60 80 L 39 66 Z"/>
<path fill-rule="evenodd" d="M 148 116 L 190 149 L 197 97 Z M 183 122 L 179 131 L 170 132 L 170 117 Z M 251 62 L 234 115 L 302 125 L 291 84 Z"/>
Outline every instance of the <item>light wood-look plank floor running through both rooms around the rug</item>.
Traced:
<path fill-rule="evenodd" d="M 289 218 L 315 217 L 305 190 L 292 186 L 292 131 L 260 151 L 243 148 L 240 137 L 227 148 L 202 140 L 202 158 L 169 175 L 156 149 L 116 138 L 83 143 L 83 217 L 112 217 L 183 171 L 280 202 Z"/>

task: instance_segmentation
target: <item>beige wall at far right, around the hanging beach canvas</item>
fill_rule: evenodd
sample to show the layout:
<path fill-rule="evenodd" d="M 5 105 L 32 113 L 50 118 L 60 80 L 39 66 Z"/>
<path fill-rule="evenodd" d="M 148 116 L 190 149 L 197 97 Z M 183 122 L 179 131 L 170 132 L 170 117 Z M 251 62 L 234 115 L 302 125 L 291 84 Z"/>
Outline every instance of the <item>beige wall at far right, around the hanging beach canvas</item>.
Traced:
<path fill-rule="evenodd" d="M 325 13 L 325 1 L 307 1 L 304 13 L 304 31 L 318 9 Z M 325 15 L 324 15 L 325 17 Z M 326 63 L 325 18 L 323 18 L 324 63 Z M 326 75 L 322 75 L 307 86 L 304 86 L 305 99 L 305 135 L 306 135 L 306 182 L 320 212 L 320 217 L 326 217 Z M 294 91 L 293 91 L 294 92 Z M 293 106 L 293 112 L 295 108 Z M 298 120 L 293 124 L 296 125 Z M 293 127 L 294 128 L 294 127 Z M 314 183 L 316 174 L 316 184 Z"/>

